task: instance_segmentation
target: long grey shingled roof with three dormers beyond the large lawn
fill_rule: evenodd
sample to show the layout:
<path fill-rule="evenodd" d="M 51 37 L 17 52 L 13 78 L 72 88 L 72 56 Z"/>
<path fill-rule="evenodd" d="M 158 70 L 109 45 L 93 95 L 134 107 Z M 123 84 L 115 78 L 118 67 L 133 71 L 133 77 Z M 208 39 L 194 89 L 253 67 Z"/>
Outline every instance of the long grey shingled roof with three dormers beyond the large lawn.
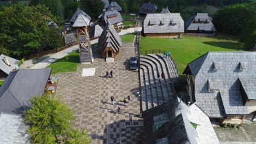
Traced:
<path fill-rule="evenodd" d="M 179 13 L 147 14 L 144 33 L 183 33 L 184 22 Z"/>

